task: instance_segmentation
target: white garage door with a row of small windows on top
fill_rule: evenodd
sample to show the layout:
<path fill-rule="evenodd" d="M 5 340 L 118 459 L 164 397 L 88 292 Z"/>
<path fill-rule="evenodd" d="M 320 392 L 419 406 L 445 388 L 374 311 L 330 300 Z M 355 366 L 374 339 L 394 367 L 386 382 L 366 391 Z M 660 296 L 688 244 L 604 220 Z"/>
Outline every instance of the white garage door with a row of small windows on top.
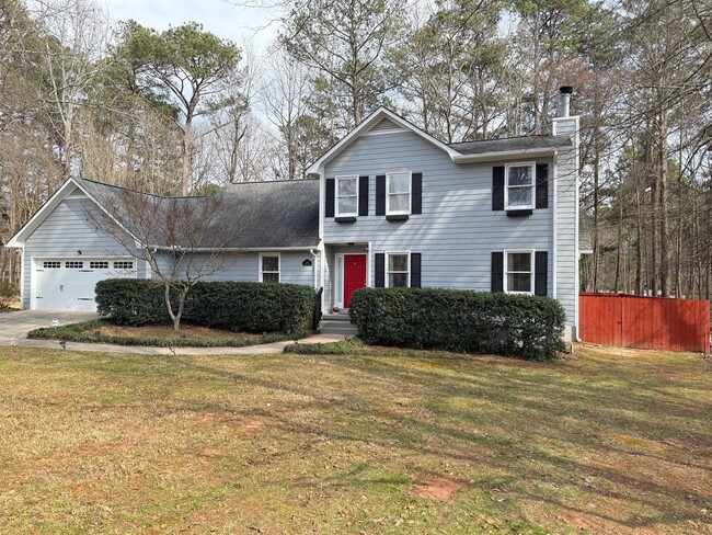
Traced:
<path fill-rule="evenodd" d="M 35 260 L 37 310 L 96 310 L 94 286 L 104 278 L 136 277 L 136 261 L 128 259 Z"/>

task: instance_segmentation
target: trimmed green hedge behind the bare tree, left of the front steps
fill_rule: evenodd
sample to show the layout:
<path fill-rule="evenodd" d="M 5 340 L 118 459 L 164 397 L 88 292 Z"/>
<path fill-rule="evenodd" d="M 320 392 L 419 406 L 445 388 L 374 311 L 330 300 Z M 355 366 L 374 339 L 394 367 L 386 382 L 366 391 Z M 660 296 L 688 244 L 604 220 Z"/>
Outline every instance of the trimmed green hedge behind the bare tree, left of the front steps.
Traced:
<path fill-rule="evenodd" d="M 168 323 L 163 284 L 110 278 L 96 284 L 96 310 L 115 323 Z M 185 301 L 183 321 L 246 332 L 306 329 L 314 305 L 310 286 L 248 282 L 199 282 Z"/>

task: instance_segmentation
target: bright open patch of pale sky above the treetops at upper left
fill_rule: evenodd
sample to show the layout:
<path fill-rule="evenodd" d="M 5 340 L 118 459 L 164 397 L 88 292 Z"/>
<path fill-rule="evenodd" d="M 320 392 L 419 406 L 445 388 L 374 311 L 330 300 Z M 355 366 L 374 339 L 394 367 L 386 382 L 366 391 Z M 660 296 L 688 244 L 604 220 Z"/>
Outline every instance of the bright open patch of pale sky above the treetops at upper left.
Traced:
<path fill-rule="evenodd" d="M 254 38 L 256 52 L 264 52 L 277 33 L 277 24 L 269 24 L 274 14 L 225 0 L 108 0 L 107 7 L 116 21 L 134 19 L 156 30 L 198 22 L 205 30 L 238 45 Z"/>

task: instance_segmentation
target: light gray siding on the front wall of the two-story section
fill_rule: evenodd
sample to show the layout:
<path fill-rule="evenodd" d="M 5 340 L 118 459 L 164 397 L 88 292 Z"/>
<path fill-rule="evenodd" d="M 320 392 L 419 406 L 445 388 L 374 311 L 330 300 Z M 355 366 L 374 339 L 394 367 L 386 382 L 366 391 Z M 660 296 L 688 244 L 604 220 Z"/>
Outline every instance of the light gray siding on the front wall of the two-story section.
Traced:
<path fill-rule="evenodd" d="M 552 159 L 524 161 L 549 163 L 551 175 Z M 492 251 L 548 251 L 551 294 L 552 187 L 549 208 L 535 209 L 531 216 L 507 217 L 504 210 L 493 212 L 492 168 L 504 163 L 456 164 L 445 151 L 410 132 L 361 136 L 329 162 L 324 177 L 368 174 L 369 216 L 358 217 L 354 224 L 326 218 L 324 243 L 370 241 L 371 265 L 375 253 L 420 252 L 423 286 L 480 292 L 491 289 Z M 384 216 L 375 215 L 376 175 L 391 171 L 423 173 L 423 213 L 411 215 L 407 221 L 388 221 Z M 371 270 L 370 285 L 375 285 L 374 277 Z M 328 295 L 331 299 L 333 292 Z"/>

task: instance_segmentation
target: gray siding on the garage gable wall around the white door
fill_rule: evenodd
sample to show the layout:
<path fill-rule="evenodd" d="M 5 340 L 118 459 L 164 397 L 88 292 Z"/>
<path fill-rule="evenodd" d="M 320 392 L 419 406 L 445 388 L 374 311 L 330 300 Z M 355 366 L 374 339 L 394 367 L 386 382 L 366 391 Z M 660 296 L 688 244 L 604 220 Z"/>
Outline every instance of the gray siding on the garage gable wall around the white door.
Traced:
<path fill-rule="evenodd" d="M 23 255 L 22 308 L 30 308 L 33 258 L 51 257 L 126 257 L 128 252 L 115 239 L 96 230 L 87 221 L 84 206 L 91 203 L 81 196 L 65 198 L 25 240 Z M 138 276 L 146 274 L 145 263 L 137 262 Z"/>

